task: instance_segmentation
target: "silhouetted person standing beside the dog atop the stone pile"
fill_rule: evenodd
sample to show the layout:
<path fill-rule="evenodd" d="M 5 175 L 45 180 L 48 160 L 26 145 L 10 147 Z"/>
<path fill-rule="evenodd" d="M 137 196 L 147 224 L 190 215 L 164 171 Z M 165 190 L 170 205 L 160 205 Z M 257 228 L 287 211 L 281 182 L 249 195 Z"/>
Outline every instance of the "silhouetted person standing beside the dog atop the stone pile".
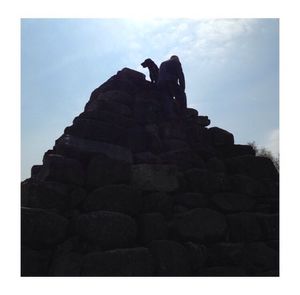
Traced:
<path fill-rule="evenodd" d="M 179 114 L 183 114 L 186 109 L 185 79 L 178 56 L 172 55 L 169 60 L 162 62 L 159 67 L 158 85 L 168 98 L 167 112 L 172 113 L 171 99 L 175 98 Z"/>

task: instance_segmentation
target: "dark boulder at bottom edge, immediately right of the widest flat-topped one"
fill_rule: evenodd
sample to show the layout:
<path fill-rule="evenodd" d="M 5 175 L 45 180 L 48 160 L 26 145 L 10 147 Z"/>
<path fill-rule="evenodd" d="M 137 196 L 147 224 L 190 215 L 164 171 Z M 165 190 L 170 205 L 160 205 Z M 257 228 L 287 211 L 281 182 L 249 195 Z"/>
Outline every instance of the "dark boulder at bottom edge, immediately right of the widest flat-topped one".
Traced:
<path fill-rule="evenodd" d="M 155 263 L 155 275 L 188 276 L 191 264 L 187 249 L 174 241 L 158 240 L 149 244 Z"/>

